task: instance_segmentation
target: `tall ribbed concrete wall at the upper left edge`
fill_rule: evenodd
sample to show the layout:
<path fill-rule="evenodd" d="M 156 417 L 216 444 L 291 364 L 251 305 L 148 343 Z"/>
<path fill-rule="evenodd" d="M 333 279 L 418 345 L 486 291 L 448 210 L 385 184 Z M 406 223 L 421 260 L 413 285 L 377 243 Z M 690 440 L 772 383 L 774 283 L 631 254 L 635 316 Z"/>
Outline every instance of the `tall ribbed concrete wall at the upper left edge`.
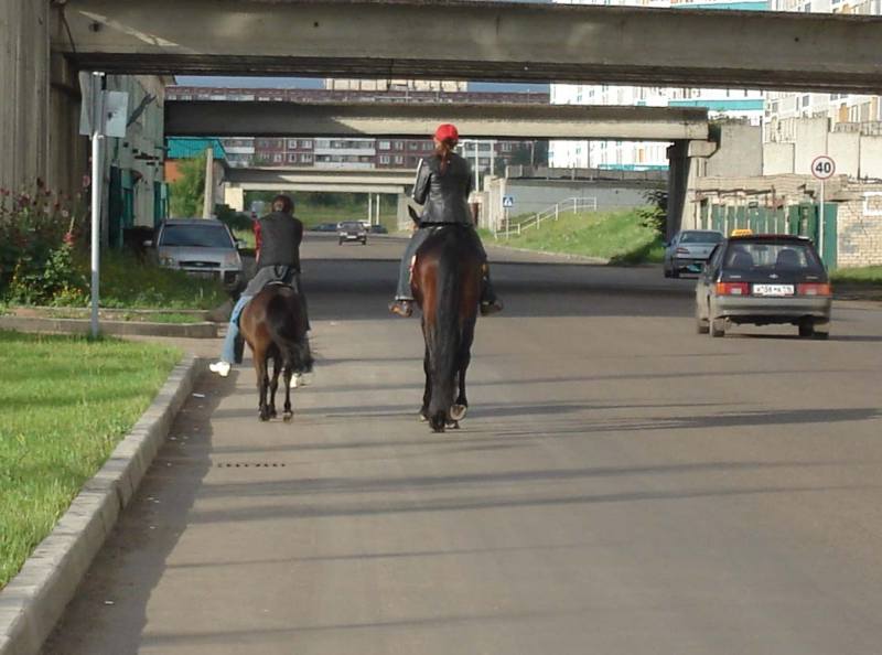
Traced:
<path fill-rule="evenodd" d="M 47 180 L 49 2 L 0 1 L 0 186 Z M 49 181 L 51 182 L 51 181 Z"/>

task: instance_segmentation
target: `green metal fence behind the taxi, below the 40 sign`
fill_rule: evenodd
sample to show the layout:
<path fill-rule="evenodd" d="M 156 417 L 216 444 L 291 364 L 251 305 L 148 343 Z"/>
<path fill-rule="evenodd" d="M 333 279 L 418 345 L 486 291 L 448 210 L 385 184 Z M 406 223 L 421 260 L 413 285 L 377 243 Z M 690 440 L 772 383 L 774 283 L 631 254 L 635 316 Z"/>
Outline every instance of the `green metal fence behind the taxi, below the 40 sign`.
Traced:
<path fill-rule="evenodd" d="M 819 205 L 803 203 L 779 210 L 766 207 L 734 207 L 710 205 L 701 207 L 701 228 L 716 229 L 725 235 L 733 229 L 747 228 L 755 234 L 793 234 L 811 239 L 827 268 L 836 268 L 837 260 L 836 203 L 824 203 L 824 232 L 820 229 Z"/>

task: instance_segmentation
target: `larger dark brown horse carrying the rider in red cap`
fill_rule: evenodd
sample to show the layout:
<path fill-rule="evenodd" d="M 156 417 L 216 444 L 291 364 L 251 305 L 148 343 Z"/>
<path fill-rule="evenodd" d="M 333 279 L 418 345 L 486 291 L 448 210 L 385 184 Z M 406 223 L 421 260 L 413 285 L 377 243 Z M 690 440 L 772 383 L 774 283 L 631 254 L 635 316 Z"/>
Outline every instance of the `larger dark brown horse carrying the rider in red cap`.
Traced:
<path fill-rule="evenodd" d="M 481 297 L 483 258 L 471 227 L 434 228 L 417 251 L 411 289 L 422 310 L 426 391 L 420 416 L 435 432 L 465 417 L 465 371 Z"/>

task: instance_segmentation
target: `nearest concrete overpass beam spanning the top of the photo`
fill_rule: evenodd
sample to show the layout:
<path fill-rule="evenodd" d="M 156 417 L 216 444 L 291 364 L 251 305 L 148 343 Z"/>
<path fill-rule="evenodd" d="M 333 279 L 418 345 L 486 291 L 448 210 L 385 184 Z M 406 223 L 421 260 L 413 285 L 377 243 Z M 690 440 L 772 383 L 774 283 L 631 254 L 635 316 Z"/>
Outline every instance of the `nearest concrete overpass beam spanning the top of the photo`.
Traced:
<path fill-rule="evenodd" d="M 115 73 L 882 92 L 882 18 L 424 0 L 67 0 L 53 47 Z M 431 37 L 437 25 L 443 39 Z"/>

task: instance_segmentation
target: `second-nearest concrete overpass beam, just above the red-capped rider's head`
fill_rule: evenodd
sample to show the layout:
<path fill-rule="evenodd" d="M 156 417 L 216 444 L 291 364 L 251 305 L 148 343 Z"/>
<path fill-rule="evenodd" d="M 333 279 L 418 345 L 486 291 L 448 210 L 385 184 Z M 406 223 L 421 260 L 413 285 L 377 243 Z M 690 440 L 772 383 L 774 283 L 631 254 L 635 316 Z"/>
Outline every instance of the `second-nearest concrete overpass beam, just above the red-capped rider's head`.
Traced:
<path fill-rule="evenodd" d="M 454 122 L 470 138 L 658 140 L 708 138 L 704 108 L 395 103 L 165 103 L 176 137 L 426 137 Z"/>

